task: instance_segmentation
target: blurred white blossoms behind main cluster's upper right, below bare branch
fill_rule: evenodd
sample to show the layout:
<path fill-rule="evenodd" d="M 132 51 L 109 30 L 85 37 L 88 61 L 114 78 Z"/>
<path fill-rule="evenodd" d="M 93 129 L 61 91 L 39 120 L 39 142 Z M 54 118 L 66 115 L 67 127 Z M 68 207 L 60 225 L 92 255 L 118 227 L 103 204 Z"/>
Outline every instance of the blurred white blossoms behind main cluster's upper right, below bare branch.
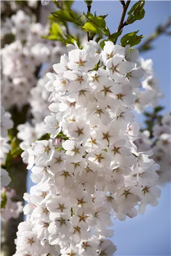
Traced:
<path fill-rule="evenodd" d="M 144 60 L 140 57 L 139 62 L 142 71 L 144 71 L 144 77 L 142 77 L 142 87 L 135 89 L 137 99 L 134 102 L 134 106 L 135 111 L 140 114 L 149 106 L 156 107 L 163 94 L 159 89 L 159 81 L 155 77 L 154 69 L 152 69 L 152 59 Z"/>

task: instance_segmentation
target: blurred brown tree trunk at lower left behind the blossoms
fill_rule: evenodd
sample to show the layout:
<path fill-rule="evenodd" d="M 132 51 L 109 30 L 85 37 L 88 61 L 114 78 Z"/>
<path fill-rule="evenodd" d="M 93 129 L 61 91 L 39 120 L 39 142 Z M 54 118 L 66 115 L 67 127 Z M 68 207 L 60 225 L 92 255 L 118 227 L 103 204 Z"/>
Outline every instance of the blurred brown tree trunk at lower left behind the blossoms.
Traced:
<path fill-rule="evenodd" d="M 18 162 L 14 162 L 10 169 L 12 182 L 10 188 L 16 190 L 16 201 L 22 201 L 23 195 L 26 192 L 27 170 L 26 165 L 22 163 L 21 157 Z M 17 226 L 24 220 L 23 213 L 20 214 L 18 219 L 10 219 L 7 222 L 1 223 L 1 256 L 12 256 L 16 252 L 16 239 Z"/>

